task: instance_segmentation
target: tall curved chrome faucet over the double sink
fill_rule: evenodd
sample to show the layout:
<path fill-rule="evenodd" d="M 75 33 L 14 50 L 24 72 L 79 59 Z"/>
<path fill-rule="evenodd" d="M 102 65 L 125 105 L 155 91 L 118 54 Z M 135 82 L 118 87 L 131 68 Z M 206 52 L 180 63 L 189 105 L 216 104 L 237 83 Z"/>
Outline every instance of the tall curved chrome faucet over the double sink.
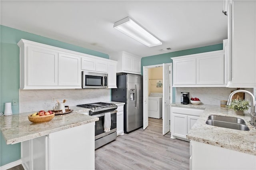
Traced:
<path fill-rule="evenodd" d="M 256 125 L 255 98 L 254 98 L 254 95 L 251 92 L 249 92 L 247 90 L 236 90 L 236 91 L 233 91 L 229 95 L 227 105 L 228 106 L 231 105 L 233 95 L 236 94 L 236 93 L 239 93 L 239 92 L 247 93 L 247 94 L 249 94 L 251 96 L 251 99 L 252 99 L 252 103 L 251 103 L 252 112 L 251 112 L 251 115 L 250 115 L 251 116 L 251 121 L 249 121 L 249 122 L 255 128 L 255 125 Z"/>

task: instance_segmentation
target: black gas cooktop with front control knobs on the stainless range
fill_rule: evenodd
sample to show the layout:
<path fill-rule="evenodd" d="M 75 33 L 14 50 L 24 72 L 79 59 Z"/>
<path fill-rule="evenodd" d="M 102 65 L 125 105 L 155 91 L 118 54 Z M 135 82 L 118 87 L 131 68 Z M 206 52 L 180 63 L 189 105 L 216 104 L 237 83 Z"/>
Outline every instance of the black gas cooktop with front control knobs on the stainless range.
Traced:
<path fill-rule="evenodd" d="M 96 115 L 99 113 L 107 113 L 109 111 L 114 111 L 117 109 L 117 106 L 113 103 L 88 103 L 84 105 L 76 105 L 77 107 L 84 107 L 90 109 L 89 115 Z"/>

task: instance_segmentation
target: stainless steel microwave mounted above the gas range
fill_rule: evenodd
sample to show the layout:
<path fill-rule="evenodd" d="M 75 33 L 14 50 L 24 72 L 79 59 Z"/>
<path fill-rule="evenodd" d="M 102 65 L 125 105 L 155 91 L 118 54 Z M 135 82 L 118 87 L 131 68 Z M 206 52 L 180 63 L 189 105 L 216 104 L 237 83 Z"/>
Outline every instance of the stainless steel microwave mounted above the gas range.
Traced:
<path fill-rule="evenodd" d="M 105 89 L 108 88 L 108 75 L 82 71 L 82 89 Z"/>

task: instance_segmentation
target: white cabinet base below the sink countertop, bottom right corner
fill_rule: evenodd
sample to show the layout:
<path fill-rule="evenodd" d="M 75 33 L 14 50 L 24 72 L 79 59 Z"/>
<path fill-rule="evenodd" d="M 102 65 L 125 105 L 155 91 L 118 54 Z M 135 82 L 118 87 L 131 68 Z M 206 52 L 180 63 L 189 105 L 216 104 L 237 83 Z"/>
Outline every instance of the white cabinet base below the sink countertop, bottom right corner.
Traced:
<path fill-rule="evenodd" d="M 190 170 L 255 170 L 256 156 L 191 140 Z"/>

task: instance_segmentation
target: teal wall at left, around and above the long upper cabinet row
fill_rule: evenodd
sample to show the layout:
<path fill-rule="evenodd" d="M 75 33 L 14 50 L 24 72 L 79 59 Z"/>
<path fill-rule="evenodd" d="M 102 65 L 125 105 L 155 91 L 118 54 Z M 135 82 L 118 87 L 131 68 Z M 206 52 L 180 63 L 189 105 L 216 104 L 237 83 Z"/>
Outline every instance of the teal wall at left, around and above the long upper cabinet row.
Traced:
<path fill-rule="evenodd" d="M 28 32 L 23 32 L 6 26 L 0 26 L 0 112 L 4 112 L 4 103 L 19 100 L 20 87 L 20 49 L 17 43 L 20 39 L 44 43 L 55 47 L 69 49 L 98 57 L 109 59 L 105 53 L 78 47 L 76 45 L 52 40 Z M 14 114 L 19 113 L 19 105 L 12 106 Z M 6 145 L 4 137 L 0 135 L 0 166 L 20 159 L 20 143 Z"/>

